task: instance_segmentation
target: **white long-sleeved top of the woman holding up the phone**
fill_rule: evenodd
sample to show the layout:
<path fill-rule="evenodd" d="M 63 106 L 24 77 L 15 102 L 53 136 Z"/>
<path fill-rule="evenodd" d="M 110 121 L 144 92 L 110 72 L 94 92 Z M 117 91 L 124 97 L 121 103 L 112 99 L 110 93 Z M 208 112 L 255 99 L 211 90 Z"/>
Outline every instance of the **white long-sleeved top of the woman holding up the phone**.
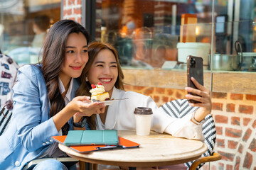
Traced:
<path fill-rule="evenodd" d="M 111 98 L 129 98 L 113 103 L 107 110 L 105 125 L 97 115 L 96 125 L 98 130 L 135 130 L 134 109 L 137 107 L 149 107 L 153 111 L 151 130 L 159 133 L 169 133 L 174 137 L 186 137 L 188 139 L 204 140 L 202 125 L 191 122 L 191 114 L 183 118 L 172 118 L 156 106 L 149 96 L 138 94 L 134 91 L 122 91 L 114 87 Z"/>

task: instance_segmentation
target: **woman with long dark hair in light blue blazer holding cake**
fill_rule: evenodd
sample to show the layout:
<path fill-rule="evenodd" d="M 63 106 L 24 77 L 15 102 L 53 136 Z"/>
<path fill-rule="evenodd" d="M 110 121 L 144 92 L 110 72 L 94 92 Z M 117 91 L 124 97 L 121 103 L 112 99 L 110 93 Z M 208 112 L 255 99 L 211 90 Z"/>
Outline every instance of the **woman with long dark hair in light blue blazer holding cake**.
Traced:
<path fill-rule="evenodd" d="M 83 116 L 104 113 L 101 103 L 77 96 L 77 79 L 88 61 L 90 35 L 79 23 L 55 23 L 43 43 L 41 64 L 18 69 L 13 87 L 14 109 L 11 123 L 0 137 L 1 169 L 23 169 L 38 158 L 67 157 L 51 136 L 68 130 L 85 130 Z M 75 98 L 74 98 L 75 97 Z M 34 169 L 75 169 L 50 159 Z"/>

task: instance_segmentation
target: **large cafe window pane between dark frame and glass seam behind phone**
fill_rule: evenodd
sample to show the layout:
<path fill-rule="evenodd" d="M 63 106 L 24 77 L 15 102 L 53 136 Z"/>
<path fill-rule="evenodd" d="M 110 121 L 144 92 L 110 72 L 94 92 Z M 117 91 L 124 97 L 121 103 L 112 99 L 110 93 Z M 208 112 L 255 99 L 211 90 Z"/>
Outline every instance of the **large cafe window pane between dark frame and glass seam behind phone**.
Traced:
<path fill-rule="evenodd" d="M 208 68 L 212 1 L 105 0 L 97 2 L 96 13 L 96 40 L 117 48 L 122 67 L 183 68 L 186 54 L 178 51 L 189 42 L 205 50 Z"/>

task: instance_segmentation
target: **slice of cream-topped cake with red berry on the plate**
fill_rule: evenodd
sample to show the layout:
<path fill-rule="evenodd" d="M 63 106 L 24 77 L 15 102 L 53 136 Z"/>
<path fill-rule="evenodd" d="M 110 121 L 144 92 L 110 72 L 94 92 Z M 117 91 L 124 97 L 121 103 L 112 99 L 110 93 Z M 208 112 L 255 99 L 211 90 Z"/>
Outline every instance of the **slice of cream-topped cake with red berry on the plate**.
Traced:
<path fill-rule="evenodd" d="M 96 101 L 107 101 L 110 100 L 110 95 L 105 91 L 105 87 L 101 83 L 92 84 L 92 89 L 90 90 L 91 101 L 95 99 Z"/>

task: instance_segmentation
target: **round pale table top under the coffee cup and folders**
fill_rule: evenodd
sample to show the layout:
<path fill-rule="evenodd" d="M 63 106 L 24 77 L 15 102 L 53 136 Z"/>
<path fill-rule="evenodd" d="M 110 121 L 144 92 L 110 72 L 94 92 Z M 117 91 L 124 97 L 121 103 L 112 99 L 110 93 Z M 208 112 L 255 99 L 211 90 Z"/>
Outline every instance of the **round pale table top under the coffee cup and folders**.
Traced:
<path fill-rule="evenodd" d="M 150 132 L 149 136 L 138 136 L 134 131 L 118 131 L 119 137 L 140 144 L 138 148 L 112 149 L 81 154 L 59 144 L 70 157 L 93 164 L 117 166 L 161 166 L 181 164 L 201 157 L 207 146 L 198 140 L 172 137 L 168 134 Z"/>

